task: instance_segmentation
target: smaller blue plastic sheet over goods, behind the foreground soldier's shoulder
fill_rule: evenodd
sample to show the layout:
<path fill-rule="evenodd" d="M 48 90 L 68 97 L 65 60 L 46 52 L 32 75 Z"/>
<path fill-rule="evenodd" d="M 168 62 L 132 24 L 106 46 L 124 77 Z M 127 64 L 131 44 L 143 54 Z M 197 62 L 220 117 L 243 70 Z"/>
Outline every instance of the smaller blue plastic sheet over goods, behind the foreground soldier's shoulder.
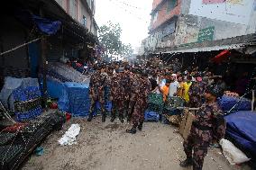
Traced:
<path fill-rule="evenodd" d="M 233 106 L 238 103 L 235 108 Z M 219 99 L 219 104 L 224 110 L 224 112 L 228 112 L 233 108 L 233 112 L 236 111 L 250 111 L 251 110 L 251 101 L 242 98 L 241 101 L 239 101 L 239 98 L 237 97 L 231 97 L 224 95 L 222 98 Z"/>

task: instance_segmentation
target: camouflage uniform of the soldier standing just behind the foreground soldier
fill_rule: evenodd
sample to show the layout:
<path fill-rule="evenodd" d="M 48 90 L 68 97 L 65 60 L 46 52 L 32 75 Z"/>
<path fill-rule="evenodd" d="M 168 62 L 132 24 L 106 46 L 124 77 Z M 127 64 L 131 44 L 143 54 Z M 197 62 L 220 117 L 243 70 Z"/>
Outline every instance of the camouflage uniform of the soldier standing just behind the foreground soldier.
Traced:
<path fill-rule="evenodd" d="M 197 82 L 191 85 L 189 89 L 189 106 L 190 107 L 200 107 L 203 103 L 203 97 L 205 93 L 205 84 L 202 82 Z"/>

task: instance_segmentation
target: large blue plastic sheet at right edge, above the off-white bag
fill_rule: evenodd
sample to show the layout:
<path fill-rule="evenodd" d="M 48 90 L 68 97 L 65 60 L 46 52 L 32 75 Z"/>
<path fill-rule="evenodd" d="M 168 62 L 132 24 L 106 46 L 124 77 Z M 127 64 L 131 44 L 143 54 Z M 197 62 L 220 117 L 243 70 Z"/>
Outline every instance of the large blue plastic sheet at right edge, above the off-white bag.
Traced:
<path fill-rule="evenodd" d="M 224 117 L 226 135 L 256 162 L 256 112 L 240 111 Z"/>

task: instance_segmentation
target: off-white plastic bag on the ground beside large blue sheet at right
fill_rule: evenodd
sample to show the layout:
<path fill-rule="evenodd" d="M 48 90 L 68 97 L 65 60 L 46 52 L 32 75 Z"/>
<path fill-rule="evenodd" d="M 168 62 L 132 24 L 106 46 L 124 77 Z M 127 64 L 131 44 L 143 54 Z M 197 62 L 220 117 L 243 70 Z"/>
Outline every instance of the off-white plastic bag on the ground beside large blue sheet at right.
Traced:
<path fill-rule="evenodd" d="M 227 139 L 221 139 L 220 145 L 223 148 L 224 157 L 231 165 L 242 164 L 251 158 L 246 157 L 239 148 L 236 148 L 232 142 Z"/>

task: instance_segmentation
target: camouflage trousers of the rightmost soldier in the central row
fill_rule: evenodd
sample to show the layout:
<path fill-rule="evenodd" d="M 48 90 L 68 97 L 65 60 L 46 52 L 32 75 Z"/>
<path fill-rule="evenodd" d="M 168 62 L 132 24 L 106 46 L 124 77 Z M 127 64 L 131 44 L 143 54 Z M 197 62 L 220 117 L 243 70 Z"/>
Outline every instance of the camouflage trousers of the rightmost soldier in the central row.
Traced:
<path fill-rule="evenodd" d="M 132 116 L 133 125 L 137 126 L 140 122 L 144 121 L 144 112 L 147 109 L 147 100 L 138 99 L 134 106 Z"/>

